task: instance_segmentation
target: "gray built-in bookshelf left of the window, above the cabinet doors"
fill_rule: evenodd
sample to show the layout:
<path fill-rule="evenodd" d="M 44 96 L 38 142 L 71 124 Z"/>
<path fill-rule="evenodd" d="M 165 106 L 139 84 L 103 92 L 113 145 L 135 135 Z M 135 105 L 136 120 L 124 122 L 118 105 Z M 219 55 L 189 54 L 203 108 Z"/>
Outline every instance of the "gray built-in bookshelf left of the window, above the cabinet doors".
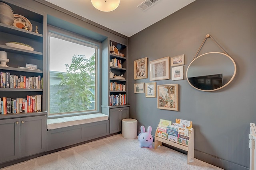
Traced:
<path fill-rule="evenodd" d="M 32 30 L 26 30 L 11 25 L 0 23 L 0 51 L 5 51 L 9 60 L 5 66 L 0 66 L 1 86 L 0 98 L 7 98 L 11 101 L 17 99 L 26 100 L 28 96 L 40 96 L 43 99 L 43 64 L 44 64 L 44 14 L 22 8 L 9 1 L 1 1 L 9 5 L 14 14 L 26 17 L 32 24 Z M 38 33 L 36 32 L 38 28 Z M 33 47 L 33 51 L 7 46 L 8 42 L 18 42 Z M 36 69 L 27 69 L 26 64 L 35 65 Z M 3 78 L 5 74 L 5 78 Z M 15 76 L 15 77 L 14 77 Z M 6 82 L 6 80 L 8 82 Z M 5 86 L 3 84 L 5 82 Z M 39 97 L 38 97 L 39 100 Z M 42 102 L 43 100 L 41 100 Z M 45 103 L 40 102 L 40 109 L 43 111 Z M 8 102 L 9 103 L 9 102 Z M 24 107 L 23 107 L 24 108 Z M 2 107 L 1 107 L 2 109 Z M 17 108 L 16 108 L 17 109 Z M 29 113 L 23 109 L 16 113 Z M 36 110 L 35 110 L 36 112 Z M 15 117 L 15 115 L 13 115 Z"/>

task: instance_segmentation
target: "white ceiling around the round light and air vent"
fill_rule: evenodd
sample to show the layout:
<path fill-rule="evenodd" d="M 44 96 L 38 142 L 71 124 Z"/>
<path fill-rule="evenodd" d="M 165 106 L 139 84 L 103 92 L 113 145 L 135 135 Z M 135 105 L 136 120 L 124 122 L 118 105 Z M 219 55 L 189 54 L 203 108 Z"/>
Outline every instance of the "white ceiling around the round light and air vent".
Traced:
<path fill-rule="evenodd" d="M 97 10 L 90 0 L 46 1 L 130 37 L 194 0 L 158 0 L 145 11 L 137 7 L 144 0 L 120 0 L 120 5 L 112 12 Z"/>

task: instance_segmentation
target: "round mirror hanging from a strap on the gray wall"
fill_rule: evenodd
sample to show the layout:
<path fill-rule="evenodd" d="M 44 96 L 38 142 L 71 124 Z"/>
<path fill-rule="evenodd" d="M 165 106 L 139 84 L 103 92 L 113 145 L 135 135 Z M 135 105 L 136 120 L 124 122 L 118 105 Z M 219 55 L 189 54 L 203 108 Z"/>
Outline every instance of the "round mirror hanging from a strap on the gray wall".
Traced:
<path fill-rule="evenodd" d="M 211 92 L 227 86 L 236 75 L 236 63 L 225 53 L 210 52 L 194 59 L 188 66 L 188 83 L 201 91 Z"/>

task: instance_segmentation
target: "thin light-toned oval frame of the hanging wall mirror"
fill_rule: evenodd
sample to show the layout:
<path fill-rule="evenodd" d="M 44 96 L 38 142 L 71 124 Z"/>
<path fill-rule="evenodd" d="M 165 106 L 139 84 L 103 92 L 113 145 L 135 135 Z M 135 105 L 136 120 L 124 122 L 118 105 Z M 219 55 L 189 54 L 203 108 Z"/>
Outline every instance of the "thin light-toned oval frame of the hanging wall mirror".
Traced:
<path fill-rule="evenodd" d="M 225 55 L 226 57 L 228 57 L 228 58 L 233 62 L 233 64 L 234 64 L 234 74 L 233 74 L 232 78 L 231 78 L 226 84 L 224 84 L 223 86 L 221 86 L 220 88 L 216 88 L 216 89 L 212 89 L 212 90 L 202 90 L 202 89 L 196 88 L 196 87 L 194 87 L 194 86 L 189 82 L 189 80 L 188 80 L 188 68 L 190 67 L 190 65 L 191 65 L 196 59 L 198 59 L 198 58 L 200 58 L 200 57 L 204 57 L 204 55 L 212 54 L 212 53 L 222 54 L 222 55 Z M 227 55 L 227 54 L 225 54 L 225 53 L 220 53 L 220 52 L 204 53 L 204 54 L 202 54 L 202 55 L 196 57 L 195 59 L 193 59 L 193 61 L 188 65 L 188 68 L 187 68 L 187 71 L 186 71 L 186 77 L 187 77 L 188 83 L 189 83 L 190 86 L 192 86 L 193 88 L 195 88 L 195 89 L 197 89 L 197 90 L 200 90 L 200 91 L 204 91 L 204 92 L 212 92 L 212 91 L 220 90 L 220 89 L 222 89 L 222 88 L 228 86 L 228 84 L 230 84 L 230 82 L 232 82 L 232 80 L 234 79 L 234 77 L 235 77 L 235 75 L 236 75 L 236 63 L 234 62 L 234 60 L 233 60 L 229 55 Z"/>

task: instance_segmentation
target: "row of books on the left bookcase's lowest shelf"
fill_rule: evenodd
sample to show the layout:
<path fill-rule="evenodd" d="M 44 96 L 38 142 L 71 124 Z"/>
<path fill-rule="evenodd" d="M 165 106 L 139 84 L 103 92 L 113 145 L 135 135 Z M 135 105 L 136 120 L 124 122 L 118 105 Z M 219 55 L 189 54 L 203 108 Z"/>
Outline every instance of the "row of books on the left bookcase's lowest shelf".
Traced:
<path fill-rule="evenodd" d="M 27 98 L 0 98 L 1 114 L 31 113 L 42 111 L 42 95 L 27 96 Z"/>

